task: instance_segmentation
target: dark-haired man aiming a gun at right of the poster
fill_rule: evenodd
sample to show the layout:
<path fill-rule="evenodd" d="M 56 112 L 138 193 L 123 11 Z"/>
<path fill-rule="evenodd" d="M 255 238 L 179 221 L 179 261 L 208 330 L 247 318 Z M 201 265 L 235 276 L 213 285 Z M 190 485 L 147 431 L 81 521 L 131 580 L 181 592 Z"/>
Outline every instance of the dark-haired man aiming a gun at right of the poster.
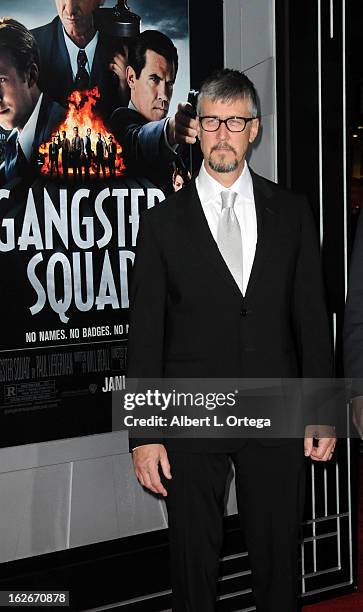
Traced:
<path fill-rule="evenodd" d="M 156 30 L 139 34 L 126 68 L 129 106 L 111 117 L 128 175 L 146 177 L 165 192 L 172 190 L 173 164 L 180 165 L 167 118 L 177 71 L 178 53 L 168 36 Z"/>

